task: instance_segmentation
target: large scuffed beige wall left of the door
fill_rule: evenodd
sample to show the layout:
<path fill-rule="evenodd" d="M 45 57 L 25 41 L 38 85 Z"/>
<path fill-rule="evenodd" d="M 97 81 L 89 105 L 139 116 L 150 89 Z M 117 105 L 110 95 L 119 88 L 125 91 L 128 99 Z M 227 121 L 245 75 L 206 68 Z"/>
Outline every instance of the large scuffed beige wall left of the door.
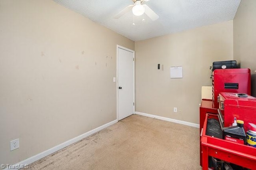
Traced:
<path fill-rule="evenodd" d="M 116 45 L 134 42 L 52 0 L 0 0 L 0 163 L 116 119 Z M 20 148 L 10 152 L 10 140 Z"/>

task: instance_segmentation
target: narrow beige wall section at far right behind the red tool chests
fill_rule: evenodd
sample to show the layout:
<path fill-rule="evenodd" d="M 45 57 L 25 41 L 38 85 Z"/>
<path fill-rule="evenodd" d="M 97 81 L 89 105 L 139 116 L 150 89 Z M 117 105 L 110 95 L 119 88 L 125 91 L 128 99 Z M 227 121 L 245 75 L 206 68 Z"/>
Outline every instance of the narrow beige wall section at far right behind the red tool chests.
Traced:
<path fill-rule="evenodd" d="M 234 18 L 234 59 L 250 68 L 256 97 L 256 0 L 242 0 Z"/>

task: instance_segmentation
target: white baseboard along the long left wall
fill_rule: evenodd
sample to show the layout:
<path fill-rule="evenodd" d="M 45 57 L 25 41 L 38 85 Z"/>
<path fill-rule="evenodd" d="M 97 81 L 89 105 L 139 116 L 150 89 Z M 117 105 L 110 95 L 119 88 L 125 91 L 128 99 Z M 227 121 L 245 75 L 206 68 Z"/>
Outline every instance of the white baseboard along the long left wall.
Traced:
<path fill-rule="evenodd" d="M 45 156 L 48 156 L 48 155 L 50 155 L 50 154 L 52 154 L 52 153 L 54 153 L 54 152 L 56 152 L 56 151 L 58 151 L 62 148 L 65 148 L 66 146 L 68 146 L 70 144 L 73 144 L 73 143 L 75 143 L 75 142 L 77 142 L 77 141 L 79 141 L 79 140 L 81 140 L 81 139 L 83 139 L 87 136 L 90 136 L 91 134 L 94 134 L 95 132 L 98 132 L 98 131 L 106 128 L 106 127 L 109 127 L 110 125 L 113 125 L 114 123 L 117 123 L 117 122 L 118 122 L 118 120 L 116 119 L 112 122 L 106 123 L 105 125 L 102 125 L 102 126 L 97 127 L 93 130 L 90 130 L 89 132 L 86 132 L 84 134 L 76 136 L 76 137 L 74 137 L 74 138 L 72 138 L 72 139 L 70 139 L 66 142 L 63 142 L 62 144 L 59 144 L 57 146 L 54 146 L 53 148 L 45 150 L 44 152 L 41 152 L 37 155 L 31 156 L 30 158 L 22 160 L 22 161 L 18 162 L 17 164 L 14 164 L 11 168 L 5 168 L 4 170 L 18 170 L 18 169 L 22 168 L 22 166 L 25 167 L 27 164 L 31 164 L 31 163 L 33 163 L 33 162 L 35 162 L 35 161 L 37 161 L 41 158 L 44 158 Z M 18 167 L 20 167 L 20 168 L 18 168 Z"/>

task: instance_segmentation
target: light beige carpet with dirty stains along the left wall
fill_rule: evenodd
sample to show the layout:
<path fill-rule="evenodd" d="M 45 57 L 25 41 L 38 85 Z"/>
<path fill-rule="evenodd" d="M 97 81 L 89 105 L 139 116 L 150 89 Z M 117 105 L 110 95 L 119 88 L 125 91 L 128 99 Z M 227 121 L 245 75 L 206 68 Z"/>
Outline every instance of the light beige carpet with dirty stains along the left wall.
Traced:
<path fill-rule="evenodd" d="M 30 170 L 202 170 L 198 128 L 131 115 Z"/>

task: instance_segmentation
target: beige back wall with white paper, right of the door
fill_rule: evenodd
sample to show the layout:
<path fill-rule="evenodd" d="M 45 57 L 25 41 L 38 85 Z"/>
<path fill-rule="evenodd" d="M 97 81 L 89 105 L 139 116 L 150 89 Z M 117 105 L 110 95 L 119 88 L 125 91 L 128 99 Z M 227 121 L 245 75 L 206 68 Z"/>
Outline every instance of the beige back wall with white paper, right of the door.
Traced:
<path fill-rule="evenodd" d="M 135 42 L 135 51 L 136 111 L 199 123 L 201 87 L 212 85 L 209 67 L 233 59 L 233 22 Z M 170 79 L 171 66 L 183 66 L 182 79 Z"/>

